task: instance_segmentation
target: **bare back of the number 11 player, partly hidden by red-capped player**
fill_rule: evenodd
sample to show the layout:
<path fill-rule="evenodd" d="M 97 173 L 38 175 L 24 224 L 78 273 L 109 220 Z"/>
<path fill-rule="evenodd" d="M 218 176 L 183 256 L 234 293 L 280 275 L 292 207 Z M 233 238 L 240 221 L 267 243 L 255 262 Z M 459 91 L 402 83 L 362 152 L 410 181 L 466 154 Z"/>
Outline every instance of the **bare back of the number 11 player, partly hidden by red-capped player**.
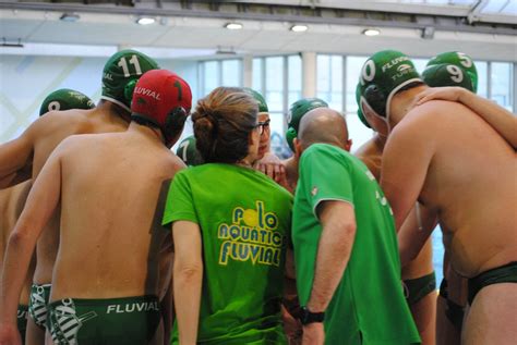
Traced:
<path fill-rule="evenodd" d="M 128 127 L 128 123 L 118 114 L 99 108 L 49 112 L 38 121 L 31 131 L 34 146 L 33 178 L 37 177 L 50 153 L 64 138 L 75 134 L 122 132 Z M 59 217 L 58 211 L 50 218 L 38 241 L 35 283 L 51 281 L 59 244 Z"/>

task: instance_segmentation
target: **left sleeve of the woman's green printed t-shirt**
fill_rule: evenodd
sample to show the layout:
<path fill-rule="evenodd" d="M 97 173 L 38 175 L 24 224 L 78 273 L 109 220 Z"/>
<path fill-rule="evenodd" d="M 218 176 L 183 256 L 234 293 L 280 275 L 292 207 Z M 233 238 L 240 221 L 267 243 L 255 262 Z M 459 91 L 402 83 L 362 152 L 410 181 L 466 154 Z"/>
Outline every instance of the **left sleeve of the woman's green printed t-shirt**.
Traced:
<path fill-rule="evenodd" d="M 199 223 L 192 199 L 192 188 L 188 175 L 188 170 L 176 174 L 167 194 L 164 219 L 161 224 L 169 226 L 175 221 L 191 221 Z"/>

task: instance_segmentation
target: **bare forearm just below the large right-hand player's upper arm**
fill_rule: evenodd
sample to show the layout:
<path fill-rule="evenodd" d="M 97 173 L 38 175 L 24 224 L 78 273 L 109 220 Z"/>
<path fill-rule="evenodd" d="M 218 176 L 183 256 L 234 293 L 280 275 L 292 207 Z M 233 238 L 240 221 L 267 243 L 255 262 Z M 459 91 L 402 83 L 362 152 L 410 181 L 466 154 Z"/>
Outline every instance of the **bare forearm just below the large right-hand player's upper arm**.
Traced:
<path fill-rule="evenodd" d="M 417 258 L 436 223 L 436 213 L 417 202 L 398 232 L 398 250 L 402 268 Z"/>

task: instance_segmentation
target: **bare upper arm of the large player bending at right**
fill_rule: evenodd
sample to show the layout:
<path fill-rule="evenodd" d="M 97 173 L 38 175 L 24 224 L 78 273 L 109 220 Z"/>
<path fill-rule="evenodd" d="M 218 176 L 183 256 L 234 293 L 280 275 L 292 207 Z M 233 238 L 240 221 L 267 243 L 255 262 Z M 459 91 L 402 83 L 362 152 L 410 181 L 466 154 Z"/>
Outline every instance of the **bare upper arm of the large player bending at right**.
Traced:
<path fill-rule="evenodd" d="M 426 124 L 405 121 L 386 143 L 381 173 L 381 187 L 392 206 L 397 232 L 417 202 L 434 153 L 432 131 L 422 127 Z"/>

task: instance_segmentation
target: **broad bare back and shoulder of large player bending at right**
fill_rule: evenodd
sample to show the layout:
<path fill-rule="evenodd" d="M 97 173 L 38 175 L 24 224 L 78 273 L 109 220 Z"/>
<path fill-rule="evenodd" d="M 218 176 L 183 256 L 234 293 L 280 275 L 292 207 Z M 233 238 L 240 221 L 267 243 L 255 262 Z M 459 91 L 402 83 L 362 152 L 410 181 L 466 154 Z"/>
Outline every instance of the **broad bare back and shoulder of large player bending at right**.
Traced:
<path fill-rule="evenodd" d="M 517 259 L 516 153 L 490 125 L 459 103 L 431 101 L 406 115 L 388 145 L 399 158 L 383 178 L 422 175 L 419 199 L 437 210 L 456 271 L 470 278 Z"/>

